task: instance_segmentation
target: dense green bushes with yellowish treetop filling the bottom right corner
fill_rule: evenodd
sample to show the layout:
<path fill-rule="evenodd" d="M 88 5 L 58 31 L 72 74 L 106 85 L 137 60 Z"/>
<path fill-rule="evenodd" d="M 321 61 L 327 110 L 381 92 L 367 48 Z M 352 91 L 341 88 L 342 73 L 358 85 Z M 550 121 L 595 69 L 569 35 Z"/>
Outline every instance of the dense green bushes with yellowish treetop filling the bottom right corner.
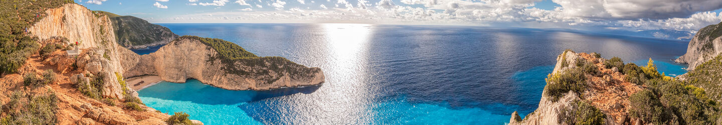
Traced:
<path fill-rule="evenodd" d="M 652 60 L 639 68 L 643 71 L 640 78 L 649 78 L 643 80 L 648 88 L 630 97 L 632 118 L 650 124 L 706 124 L 721 118 L 720 106 L 706 96 L 704 89 L 661 75 Z"/>

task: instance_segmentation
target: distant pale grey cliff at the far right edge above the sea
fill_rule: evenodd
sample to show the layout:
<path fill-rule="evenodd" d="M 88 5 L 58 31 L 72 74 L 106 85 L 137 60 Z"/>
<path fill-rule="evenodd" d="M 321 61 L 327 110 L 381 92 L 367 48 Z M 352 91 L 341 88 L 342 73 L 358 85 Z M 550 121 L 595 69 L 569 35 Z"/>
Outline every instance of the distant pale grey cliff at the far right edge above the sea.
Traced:
<path fill-rule="evenodd" d="M 687 53 L 674 60 L 690 65 L 687 70 L 695 70 L 697 65 L 717 57 L 722 52 L 722 22 L 700 29 L 687 46 Z"/>

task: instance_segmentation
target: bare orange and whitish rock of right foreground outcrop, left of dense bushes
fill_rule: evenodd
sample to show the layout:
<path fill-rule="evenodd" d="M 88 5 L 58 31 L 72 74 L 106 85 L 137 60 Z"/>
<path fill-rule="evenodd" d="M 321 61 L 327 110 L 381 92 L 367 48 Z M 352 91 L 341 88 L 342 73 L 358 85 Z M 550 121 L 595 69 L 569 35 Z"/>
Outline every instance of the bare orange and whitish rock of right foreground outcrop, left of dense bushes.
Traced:
<path fill-rule="evenodd" d="M 579 68 L 577 63 L 591 63 L 588 65 L 596 65 L 599 73 L 585 73 L 586 80 L 583 81 L 586 87 L 578 95 L 573 91 L 564 93 L 558 101 L 554 102 L 546 93 L 549 84 L 544 87 L 544 91 L 539 101 L 539 108 L 528 114 L 522 121 L 518 121 L 514 115 L 509 124 L 569 124 L 565 123 L 565 111 L 575 110 L 576 102 L 584 101 L 591 104 L 594 108 L 599 109 L 606 119 L 605 124 L 630 124 L 629 115 L 627 114 L 630 106 L 629 96 L 633 93 L 641 91 L 639 85 L 624 80 L 624 75 L 619 73 L 617 68 L 605 68 L 604 58 L 593 57 L 586 53 L 576 53 L 570 50 L 562 52 L 557 57 L 557 63 L 554 71 L 550 76 L 560 75 L 568 72 L 573 68 Z"/>

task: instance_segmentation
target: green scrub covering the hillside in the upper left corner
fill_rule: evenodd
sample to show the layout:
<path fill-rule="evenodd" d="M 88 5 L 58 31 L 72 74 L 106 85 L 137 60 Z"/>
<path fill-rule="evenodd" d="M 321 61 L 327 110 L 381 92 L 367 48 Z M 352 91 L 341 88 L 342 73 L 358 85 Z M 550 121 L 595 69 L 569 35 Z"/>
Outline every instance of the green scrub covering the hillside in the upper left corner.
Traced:
<path fill-rule="evenodd" d="M 45 17 L 46 9 L 68 3 L 74 1 L 0 1 L 0 77 L 17 72 L 27 57 L 38 50 L 38 38 L 27 35 L 27 28 Z"/>

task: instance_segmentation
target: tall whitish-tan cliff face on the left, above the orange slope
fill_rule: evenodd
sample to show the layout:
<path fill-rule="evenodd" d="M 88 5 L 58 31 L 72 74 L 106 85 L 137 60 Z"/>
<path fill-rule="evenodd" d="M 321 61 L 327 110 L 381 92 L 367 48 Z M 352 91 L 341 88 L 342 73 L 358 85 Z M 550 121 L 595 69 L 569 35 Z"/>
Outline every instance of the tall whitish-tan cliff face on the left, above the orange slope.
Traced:
<path fill-rule="evenodd" d="M 65 37 L 71 44 L 79 42 L 79 49 L 86 51 L 78 56 L 76 64 L 79 70 L 87 70 L 96 75 L 102 73 L 105 75 L 103 96 L 123 98 L 122 88 L 125 86 L 118 83 L 116 73 L 123 73 L 121 53 L 130 50 L 116 43 L 110 19 L 104 14 L 94 14 L 78 4 L 65 4 L 46 12 L 48 16 L 33 24 L 28 29 L 30 33 L 40 40 Z"/>

